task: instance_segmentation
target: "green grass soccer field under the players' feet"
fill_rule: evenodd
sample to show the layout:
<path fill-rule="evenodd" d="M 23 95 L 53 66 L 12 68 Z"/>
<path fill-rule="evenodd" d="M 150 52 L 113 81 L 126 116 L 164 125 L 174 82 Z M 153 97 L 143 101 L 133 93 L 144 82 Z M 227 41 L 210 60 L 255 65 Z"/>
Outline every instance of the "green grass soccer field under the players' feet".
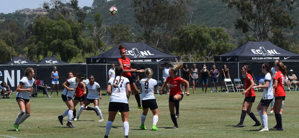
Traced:
<path fill-rule="evenodd" d="M 192 92 L 192 89 L 190 89 Z M 275 124 L 274 113 L 269 113 L 268 109 L 268 132 L 258 132 L 260 127 L 252 127 L 254 121 L 246 115 L 243 128 L 234 128 L 239 123 L 241 107 L 244 95 L 240 92 L 229 93 L 201 93 L 197 89 L 196 94 L 190 96 L 184 94 L 180 102 L 180 117 L 178 118 L 179 128 L 170 129 L 173 123 L 170 118 L 168 108 L 168 94 L 156 94 L 159 109 L 159 121 L 157 127 L 159 131 L 152 131 L 152 113 L 149 112 L 145 127 L 148 130 L 139 129 L 141 109 L 137 109 L 134 96 L 129 99 L 129 137 L 130 138 L 197 138 L 197 137 L 298 137 L 298 99 L 296 91 L 286 92 L 282 121 L 284 131 L 273 131 Z M 209 91 L 208 91 L 209 92 Z M 105 90 L 103 93 L 106 94 Z M 260 120 L 257 113 L 257 104 L 262 93 L 256 92 L 257 98 L 252 106 L 252 111 Z M 60 92 L 61 95 L 61 92 Z M 0 137 L 39 137 L 39 138 L 66 138 L 66 137 L 104 137 L 106 123 L 108 120 L 108 105 L 110 96 L 103 96 L 100 100 L 104 122 L 98 122 L 99 117 L 94 111 L 84 110 L 80 120 L 72 121 L 75 128 L 66 126 L 67 117 L 64 118 L 63 125 L 59 123 L 57 116 L 61 115 L 67 108 L 61 97 L 39 97 L 30 98 L 31 116 L 20 126 L 19 131 L 14 131 L 13 123 L 20 109 L 16 102 L 16 93 L 10 99 L 0 100 Z M 94 107 L 93 104 L 90 105 Z M 80 106 L 77 106 L 77 112 Z M 110 138 L 123 138 L 123 123 L 121 117 L 116 115 Z"/>

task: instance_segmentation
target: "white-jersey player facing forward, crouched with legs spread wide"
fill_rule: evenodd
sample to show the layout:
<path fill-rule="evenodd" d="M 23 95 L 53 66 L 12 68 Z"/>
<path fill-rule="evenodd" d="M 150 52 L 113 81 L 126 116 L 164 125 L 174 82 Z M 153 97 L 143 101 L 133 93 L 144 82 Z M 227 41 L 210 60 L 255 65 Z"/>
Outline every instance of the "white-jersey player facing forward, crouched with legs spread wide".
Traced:
<path fill-rule="evenodd" d="M 89 83 L 87 83 L 87 97 L 86 100 L 84 100 L 83 104 L 79 108 L 78 115 L 77 117 L 74 118 L 75 121 L 77 121 L 80 117 L 80 114 L 84 110 L 86 106 L 88 106 L 90 103 L 94 103 L 94 108 L 97 110 L 97 113 L 100 116 L 99 122 L 103 122 L 103 116 L 102 116 L 102 111 L 99 108 L 99 94 L 100 92 L 100 99 L 102 99 L 102 91 L 99 83 L 95 82 L 94 76 L 89 76 Z"/>

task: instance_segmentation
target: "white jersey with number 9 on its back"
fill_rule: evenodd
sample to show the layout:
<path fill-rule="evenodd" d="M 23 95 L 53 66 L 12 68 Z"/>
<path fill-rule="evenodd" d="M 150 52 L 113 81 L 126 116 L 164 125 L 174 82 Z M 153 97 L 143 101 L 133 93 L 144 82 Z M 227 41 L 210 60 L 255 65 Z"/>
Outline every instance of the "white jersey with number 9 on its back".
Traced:
<path fill-rule="evenodd" d="M 141 100 L 155 99 L 154 88 L 158 86 L 157 80 L 150 78 L 147 82 L 147 78 L 141 79 L 140 85 L 142 88 Z"/>

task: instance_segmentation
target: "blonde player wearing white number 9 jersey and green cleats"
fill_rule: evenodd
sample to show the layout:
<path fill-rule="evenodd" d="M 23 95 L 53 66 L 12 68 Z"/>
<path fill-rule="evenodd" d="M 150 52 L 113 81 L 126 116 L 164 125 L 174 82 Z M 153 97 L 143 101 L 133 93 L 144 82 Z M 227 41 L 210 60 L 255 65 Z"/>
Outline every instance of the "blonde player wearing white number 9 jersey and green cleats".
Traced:
<path fill-rule="evenodd" d="M 141 91 L 141 103 L 143 113 L 141 114 L 141 125 L 139 128 L 147 129 L 144 126 L 145 119 L 147 118 L 147 112 L 152 110 L 154 117 L 152 118 L 152 130 L 158 130 L 156 127 L 158 122 L 158 105 L 156 103 L 154 93 L 158 93 L 157 80 L 152 79 L 152 69 L 147 68 L 144 70 L 146 78 L 142 79 L 139 83 Z"/>

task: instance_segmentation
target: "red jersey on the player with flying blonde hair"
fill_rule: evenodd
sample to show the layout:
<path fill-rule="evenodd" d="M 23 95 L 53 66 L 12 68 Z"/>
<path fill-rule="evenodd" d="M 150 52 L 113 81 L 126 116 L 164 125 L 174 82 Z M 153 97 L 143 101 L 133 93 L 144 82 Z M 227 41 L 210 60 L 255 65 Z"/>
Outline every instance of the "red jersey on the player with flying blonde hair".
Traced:
<path fill-rule="evenodd" d="M 170 84 L 170 94 L 169 95 L 176 95 L 182 94 L 181 90 L 181 83 L 184 81 L 183 78 L 176 76 L 175 78 L 167 77 L 166 82 Z"/>

